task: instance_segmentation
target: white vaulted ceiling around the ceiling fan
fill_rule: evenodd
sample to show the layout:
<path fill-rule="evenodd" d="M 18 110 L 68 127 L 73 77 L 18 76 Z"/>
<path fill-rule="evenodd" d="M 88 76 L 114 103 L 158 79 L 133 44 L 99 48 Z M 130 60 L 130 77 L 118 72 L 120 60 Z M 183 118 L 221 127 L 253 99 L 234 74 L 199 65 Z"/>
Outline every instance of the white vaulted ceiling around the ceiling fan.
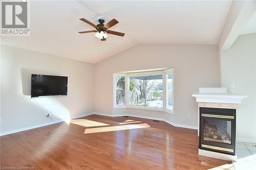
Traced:
<path fill-rule="evenodd" d="M 231 1 L 31 1 L 30 36 L 2 36 L 1 44 L 96 63 L 139 43 L 218 44 Z M 115 18 L 106 41 L 94 28 Z M 148 37 L 145 37 L 148 36 Z M 115 45 L 113 45 L 115 44 Z"/>

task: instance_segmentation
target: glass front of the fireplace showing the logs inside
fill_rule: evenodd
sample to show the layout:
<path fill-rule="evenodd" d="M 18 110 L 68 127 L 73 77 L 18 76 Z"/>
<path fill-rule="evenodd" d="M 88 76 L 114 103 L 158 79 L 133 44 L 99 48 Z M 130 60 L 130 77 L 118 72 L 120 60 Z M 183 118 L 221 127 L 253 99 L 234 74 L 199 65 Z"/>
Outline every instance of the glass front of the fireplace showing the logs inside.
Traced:
<path fill-rule="evenodd" d="M 231 121 L 221 118 L 203 117 L 203 139 L 231 144 Z"/>

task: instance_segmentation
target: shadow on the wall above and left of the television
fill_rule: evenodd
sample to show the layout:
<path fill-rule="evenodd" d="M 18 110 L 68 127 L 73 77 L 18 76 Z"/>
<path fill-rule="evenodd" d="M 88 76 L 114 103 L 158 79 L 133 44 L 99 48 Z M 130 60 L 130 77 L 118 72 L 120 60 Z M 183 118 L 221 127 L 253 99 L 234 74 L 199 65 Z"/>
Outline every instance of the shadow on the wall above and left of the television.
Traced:
<path fill-rule="evenodd" d="M 31 95 L 31 75 L 59 75 L 59 72 L 49 71 L 49 70 L 40 70 L 40 69 L 28 69 L 20 68 L 20 74 L 22 76 L 22 92 L 24 95 Z"/>

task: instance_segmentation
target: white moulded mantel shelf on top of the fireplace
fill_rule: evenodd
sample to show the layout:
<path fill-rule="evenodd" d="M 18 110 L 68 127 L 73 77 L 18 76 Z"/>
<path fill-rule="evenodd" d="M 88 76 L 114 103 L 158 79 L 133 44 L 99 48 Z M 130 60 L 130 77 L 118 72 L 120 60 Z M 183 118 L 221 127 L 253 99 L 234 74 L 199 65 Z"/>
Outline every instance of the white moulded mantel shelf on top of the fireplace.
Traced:
<path fill-rule="evenodd" d="M 247 95 L 237 95 L 230 93 L 200 93 L 192 94 L 197 100 L 196 102 L 207 103 L 233 103 L 241 104 L 242 99 L 247 98 Z"/>

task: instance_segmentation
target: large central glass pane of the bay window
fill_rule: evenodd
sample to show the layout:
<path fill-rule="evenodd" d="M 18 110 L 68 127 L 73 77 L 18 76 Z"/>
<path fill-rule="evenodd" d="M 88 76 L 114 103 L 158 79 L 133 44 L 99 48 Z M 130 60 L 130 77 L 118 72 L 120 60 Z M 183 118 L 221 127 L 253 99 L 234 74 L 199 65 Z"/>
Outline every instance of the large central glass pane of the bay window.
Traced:
<path fill-rule="evenodd" d="M 129 105 L 163 107 L 163 77 L 130 77 Z"/>

